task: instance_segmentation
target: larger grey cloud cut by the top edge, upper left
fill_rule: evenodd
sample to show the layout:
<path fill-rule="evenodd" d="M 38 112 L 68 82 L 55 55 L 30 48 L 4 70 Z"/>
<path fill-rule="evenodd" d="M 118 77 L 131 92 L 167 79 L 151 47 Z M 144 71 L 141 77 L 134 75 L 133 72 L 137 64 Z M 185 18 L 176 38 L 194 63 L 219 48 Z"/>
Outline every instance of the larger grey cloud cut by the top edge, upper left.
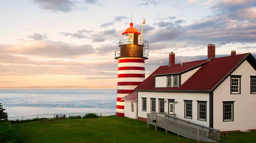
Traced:
<path fill-rule="evenodd" d="M 50 10 L 52 12 L 71 12 L 75 6 L 73 0 L 33 0 L 33 3 L 38 5 L 41 9 Z"/>

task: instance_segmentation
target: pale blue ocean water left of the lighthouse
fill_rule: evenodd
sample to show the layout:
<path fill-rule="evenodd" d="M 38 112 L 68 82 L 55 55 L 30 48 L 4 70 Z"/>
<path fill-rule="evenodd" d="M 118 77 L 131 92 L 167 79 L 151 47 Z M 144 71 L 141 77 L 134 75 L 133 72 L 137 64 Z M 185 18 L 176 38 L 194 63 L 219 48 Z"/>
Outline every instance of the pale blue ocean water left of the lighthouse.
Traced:
<path fill-rule="evenodd" d="M 115 112 L 115 89 L 22 89 L 0 90 L 0 103 L 8 117 Z"/>

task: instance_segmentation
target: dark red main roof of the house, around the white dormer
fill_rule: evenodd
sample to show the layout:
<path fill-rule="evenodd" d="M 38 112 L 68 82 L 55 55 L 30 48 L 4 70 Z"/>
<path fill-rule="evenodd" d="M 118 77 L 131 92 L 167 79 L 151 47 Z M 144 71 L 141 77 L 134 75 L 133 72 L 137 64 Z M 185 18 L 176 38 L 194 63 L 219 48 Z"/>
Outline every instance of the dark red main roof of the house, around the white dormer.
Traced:
<path fill-rule="evenodd" d="M 148 78 L 146 78 L 135 90 L 196 90 L 196 91 L 211 91 L 222 79 L 230 73 L 247 55 L 250 53 L 238 54 L 233 56 L 214 58 L 202 64 L 201 68 L 198 69 L 186 82 L 180 87 L 162 87 L 155 88 L 155 76 L 163 73 L 177 73 L 182 71 L 180 64 L 175 64 L 169 67 L 173 69 L 171 71 L 168 66 L 160 66 L 157 68 Z M 186 67 L 194 67 L 200 65 L 206 60 L 194 61 L 183 63 Z M 180 68 L 178 68 L 180 66 Z M 177 69 L 172 68 L 177 67 Z M 168 72 L 167 72 L 168 70 Z M 186 70 L 186 68 L 185 68 Z"/>

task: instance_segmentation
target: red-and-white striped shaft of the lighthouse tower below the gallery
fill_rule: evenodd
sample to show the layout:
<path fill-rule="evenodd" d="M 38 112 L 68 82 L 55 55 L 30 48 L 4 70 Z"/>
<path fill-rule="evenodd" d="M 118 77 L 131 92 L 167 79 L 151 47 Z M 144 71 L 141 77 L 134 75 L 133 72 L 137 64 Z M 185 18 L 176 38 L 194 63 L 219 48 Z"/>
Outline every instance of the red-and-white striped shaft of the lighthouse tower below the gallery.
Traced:
<path fill-rule="evenodd" d="M 124 116 L 124 96 L 134 91 L 145 79 L 145 59 L 119 58 L 117 72 L 116 116 Z"/>

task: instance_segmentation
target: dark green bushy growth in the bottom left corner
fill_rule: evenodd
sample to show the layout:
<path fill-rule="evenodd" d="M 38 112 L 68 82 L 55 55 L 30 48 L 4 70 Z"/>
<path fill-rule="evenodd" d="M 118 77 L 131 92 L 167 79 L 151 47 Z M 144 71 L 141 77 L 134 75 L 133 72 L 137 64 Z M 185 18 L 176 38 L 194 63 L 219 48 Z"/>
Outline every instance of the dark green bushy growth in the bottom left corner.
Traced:
<path fill-rule="evenodd" d="M 0 143 L 21 143 L 20 133 L 9 121 L 0 123 Z"/>

